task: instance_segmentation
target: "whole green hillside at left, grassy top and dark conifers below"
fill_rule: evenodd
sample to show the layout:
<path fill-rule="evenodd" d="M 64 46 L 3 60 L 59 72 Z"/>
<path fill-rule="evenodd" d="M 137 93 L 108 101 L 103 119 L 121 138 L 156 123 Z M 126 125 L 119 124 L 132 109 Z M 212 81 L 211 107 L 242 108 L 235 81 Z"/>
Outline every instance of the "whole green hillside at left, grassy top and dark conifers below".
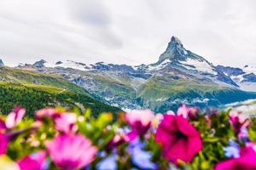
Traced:
<path fill-rule="evenodd" d="M 15 105 L 25 107 L 30 116 L 33 111 L 59 105 L 90 108 L 94 115 L 120 111 L 97 101 L 84 88 L 61 77 L 0 66 L 1 112 L 9 113 Z"/>

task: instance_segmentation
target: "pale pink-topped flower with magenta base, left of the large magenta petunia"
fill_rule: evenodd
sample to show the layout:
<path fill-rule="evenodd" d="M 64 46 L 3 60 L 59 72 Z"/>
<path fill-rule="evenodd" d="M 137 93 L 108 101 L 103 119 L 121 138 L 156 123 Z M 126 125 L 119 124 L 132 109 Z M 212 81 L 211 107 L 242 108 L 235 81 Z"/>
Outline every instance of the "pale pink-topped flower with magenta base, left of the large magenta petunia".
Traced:
<path fill-rule="evenodd" d="M 137 135 L 147 133 L 154 119 L 154 112 L 150 110 L 129 111 L 125 115 L 126 121 L 131 126 L 131 139 L 135 139 Z"/>

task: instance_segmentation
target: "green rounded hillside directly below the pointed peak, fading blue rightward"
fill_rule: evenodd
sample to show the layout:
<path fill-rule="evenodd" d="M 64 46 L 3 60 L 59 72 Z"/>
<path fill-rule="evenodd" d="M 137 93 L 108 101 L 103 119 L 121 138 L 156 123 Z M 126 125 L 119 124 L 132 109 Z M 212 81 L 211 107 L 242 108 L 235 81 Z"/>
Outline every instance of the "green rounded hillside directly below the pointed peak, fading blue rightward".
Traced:
<path fill-rule="evenodd" d="M 256 93 L 213 83 L 174 79 L 170 75 L 152 77 L 138 91 L 138 97 L 145 106 L 154 111 L 177 110 L 181 103 L 198 106 L 219 106 L 245 99 L 256 99 Z M 207 99 L 207 100 L 206 100 Z"/>

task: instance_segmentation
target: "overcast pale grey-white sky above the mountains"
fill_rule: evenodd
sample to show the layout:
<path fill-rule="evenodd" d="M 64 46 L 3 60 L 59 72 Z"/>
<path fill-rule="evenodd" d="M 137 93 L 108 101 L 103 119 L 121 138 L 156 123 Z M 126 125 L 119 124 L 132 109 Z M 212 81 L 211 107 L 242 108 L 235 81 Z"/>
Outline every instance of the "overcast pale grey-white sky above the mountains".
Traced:
<path fill-rule="evenodd" d="M 174 35 L 213 64 L 256 66 L 255 0 L 0 0 L 0 59 L 149 64 Z"/>

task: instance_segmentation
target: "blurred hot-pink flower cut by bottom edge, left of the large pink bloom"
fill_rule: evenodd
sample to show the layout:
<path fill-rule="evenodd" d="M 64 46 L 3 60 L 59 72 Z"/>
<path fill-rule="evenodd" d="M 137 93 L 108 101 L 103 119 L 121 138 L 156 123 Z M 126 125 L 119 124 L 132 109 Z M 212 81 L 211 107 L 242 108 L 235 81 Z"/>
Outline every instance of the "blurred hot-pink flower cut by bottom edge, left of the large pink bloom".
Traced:
<path fill-rule="evenodd" d="M 47 168 L 46 152 L 40 151 L 18 161 L 20 170 L 44 170 Z"/>

